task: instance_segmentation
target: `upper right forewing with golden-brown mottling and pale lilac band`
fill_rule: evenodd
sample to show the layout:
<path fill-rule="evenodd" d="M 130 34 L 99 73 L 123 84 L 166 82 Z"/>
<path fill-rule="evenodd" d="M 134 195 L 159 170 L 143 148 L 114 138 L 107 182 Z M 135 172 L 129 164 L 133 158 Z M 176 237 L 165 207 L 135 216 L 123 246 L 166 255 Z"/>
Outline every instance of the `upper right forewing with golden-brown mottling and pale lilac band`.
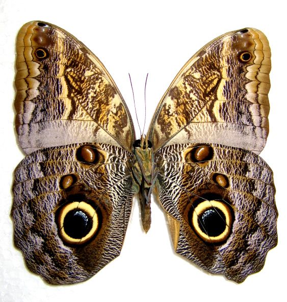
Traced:
<path fill-rule="evenodd" d="M 158 150 L 174 143 L 216 143 L 259 154 L 268 136 L 271 53 L 256 29 L 224 34 L 179 71 L 153 117 Z"/>

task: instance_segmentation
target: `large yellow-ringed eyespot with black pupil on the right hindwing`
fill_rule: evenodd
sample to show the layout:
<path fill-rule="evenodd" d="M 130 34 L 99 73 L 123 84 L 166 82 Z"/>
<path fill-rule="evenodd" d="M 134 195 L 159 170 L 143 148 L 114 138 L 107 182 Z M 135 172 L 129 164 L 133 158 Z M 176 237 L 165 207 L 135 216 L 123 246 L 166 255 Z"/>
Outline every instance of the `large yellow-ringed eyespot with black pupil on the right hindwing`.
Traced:
<path fill-rule="evenodd" d="M 190 215 L 192 228 L 206 243 L 224 242 L 231 233 L 232 220 L 230 207 L 218 200 L 204 200 Z"/>

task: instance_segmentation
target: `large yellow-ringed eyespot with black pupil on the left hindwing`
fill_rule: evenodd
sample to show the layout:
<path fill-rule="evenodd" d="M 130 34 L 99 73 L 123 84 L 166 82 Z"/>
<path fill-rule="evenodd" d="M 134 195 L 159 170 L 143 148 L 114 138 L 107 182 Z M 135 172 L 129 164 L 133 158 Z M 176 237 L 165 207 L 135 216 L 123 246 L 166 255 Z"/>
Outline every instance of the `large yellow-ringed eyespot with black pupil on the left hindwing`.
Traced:
<path fill-rule="evenodd" d="M 100 227 L 99 210 L 86 202 L 64 205 L 58 214 L 58 228 L 67 244 L 84 244 L 91 240 Z"/>

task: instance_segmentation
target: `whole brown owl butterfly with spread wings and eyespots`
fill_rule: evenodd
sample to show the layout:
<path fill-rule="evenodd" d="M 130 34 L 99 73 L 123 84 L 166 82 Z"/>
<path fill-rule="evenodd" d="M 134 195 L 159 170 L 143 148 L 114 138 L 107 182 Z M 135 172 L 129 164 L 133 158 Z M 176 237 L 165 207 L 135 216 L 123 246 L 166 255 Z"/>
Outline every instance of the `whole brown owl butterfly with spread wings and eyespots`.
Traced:
<path fill-rule="evenodd" d="M 17 38 L 15 245 L 51 284 L 89 279 L 121 251 L 133 196 L 156 188 L 176 253 L 243 282 L 277 243 L 268 136 L 270 48 L 255 29 L 206 44 L 135 138 L 126 104 L 80 41 L 41 21 Z"/>

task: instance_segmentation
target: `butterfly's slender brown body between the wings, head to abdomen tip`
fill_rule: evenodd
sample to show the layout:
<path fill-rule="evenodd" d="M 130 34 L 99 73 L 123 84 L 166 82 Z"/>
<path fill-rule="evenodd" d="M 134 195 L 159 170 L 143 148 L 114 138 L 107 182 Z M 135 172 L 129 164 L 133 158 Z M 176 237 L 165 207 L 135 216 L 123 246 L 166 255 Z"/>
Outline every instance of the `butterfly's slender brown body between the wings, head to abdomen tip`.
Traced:
<path fill-rule="evenodd" d="M 151 223 L 150 195 L 156 180 L 156 164 L 154 162 L 152 146 L 146 137 L 134 143 L 133 175 L 139 187 L 141 202 L 142 225 L 147 232 Z"/>

